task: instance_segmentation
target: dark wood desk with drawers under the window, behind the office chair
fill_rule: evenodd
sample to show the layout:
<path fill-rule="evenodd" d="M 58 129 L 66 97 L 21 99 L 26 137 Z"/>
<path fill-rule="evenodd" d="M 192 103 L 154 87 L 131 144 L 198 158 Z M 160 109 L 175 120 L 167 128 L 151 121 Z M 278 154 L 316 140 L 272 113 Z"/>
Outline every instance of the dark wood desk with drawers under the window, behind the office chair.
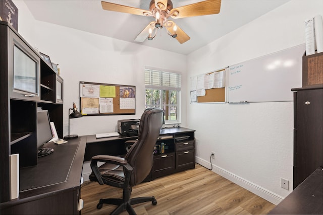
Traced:
<path fill-rule="evenodd" d="M 165 153 L 155 153 L 151 173 L 145 181 L 157 177 L 195 168 L 195 130 L 184 127 L 170 127 L 160 130 L 156 146 L 163 142 Z M 165 138 L 163 138 L 165 137 Z M 125 155 L 125 141 L 136 139 L 138 136 L 96 138 L 95 135 L 86 136 L 84 161 L 90 161 L 95 155 Z"/>

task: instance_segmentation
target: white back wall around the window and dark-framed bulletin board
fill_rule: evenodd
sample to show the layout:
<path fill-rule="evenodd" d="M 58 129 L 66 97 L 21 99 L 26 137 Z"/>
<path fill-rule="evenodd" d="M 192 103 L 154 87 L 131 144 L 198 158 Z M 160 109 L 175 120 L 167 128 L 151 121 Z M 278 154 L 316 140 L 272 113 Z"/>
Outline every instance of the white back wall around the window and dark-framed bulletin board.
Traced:
<path fill-rule="evenodd" d="M 181 73 L 181 89 L 185 95 L 186 55 L 39 22 L 34 20 L 24 2 L 14 3 L 19 9 L 19 33 L 28 37 L 26 40 L 40 52 L 49 55 L 52 62 L 59 63 L 64 79 L 64 135 L 68 134 L 68 109 L 72 108 L 73 102 L 80 108 L 80 81 L 135 85 L 136 115 L 71 119 L 70 133 L 78 135 L 117 131 L 119 119 L 140 118 L 145 109 L 144 66 Z M 186 96 L 181 96 L 181 103 L 187 103 Z M 182 125 L 185 126 L 186 105 L 182 105 L 181 115 Z M 82 175 L 87 179 L 90 173 L 89 162 L 86 162 Z"/>

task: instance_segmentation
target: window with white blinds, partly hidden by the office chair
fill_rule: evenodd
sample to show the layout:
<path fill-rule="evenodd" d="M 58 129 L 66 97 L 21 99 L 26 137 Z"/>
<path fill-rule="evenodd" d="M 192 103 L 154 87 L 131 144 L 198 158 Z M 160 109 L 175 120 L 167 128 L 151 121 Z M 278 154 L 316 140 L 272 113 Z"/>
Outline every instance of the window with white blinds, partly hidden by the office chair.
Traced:
<path fill-rule="evenodd" d="M 145 107 L 164 110 L 165 123 L 180 122 L 181 75 L 145 69 Z"/>

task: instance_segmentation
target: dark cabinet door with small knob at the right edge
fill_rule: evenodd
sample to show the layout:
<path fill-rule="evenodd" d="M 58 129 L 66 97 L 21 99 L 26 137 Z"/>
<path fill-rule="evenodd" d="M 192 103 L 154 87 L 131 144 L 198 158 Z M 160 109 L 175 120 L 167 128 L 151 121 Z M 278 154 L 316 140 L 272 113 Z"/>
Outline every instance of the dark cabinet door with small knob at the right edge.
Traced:
<path fill-rule="evenodd" d="M 297 92 L 296 120 L 294 188 L 323 166 L 323 89 Z"/>

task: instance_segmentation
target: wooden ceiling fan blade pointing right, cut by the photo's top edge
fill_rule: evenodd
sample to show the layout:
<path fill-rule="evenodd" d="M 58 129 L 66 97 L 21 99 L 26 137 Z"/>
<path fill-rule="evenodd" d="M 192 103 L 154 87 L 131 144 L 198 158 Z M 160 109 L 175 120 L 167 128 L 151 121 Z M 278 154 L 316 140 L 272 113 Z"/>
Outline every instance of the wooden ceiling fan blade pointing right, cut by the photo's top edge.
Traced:
<path fill-rule="evenodd" d="M 195 17 L 211 14 L 219 14 L 221 8 L 221 0 L 206 0 L 203 2 L 185 5 L 171 10 L 171 17 L 174 19 Z"/>

